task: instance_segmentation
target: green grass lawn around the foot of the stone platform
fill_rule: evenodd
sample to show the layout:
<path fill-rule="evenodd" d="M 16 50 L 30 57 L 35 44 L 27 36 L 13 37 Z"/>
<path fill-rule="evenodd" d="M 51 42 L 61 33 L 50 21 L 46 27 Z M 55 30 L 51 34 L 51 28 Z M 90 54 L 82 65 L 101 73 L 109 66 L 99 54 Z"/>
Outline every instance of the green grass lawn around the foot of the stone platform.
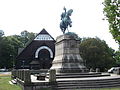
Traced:
<path fill-rule="evenodd" d="M 0 90 L 22 90 L 18 85 L 11 85 L 9 81 L 11 80 L 10 73 L 0 73 Z M 51 90 L 51 89 L 41 89 L 41 90 Z M 80 89 L 80 90 L 120 90 L 120 88 L 102 88 L 102 89 Z"/>

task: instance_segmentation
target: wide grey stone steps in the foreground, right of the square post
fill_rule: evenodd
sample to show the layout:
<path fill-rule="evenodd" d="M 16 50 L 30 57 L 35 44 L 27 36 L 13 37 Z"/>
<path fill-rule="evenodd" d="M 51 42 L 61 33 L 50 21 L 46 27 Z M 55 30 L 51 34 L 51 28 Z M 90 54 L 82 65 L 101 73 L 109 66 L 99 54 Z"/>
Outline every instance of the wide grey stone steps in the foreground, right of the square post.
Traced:
<path fill-rule="evenodd" d="M 94 80 L 63 80 L 57 82 L 58 90 L 75 90 L 86 88 L 120 87 L 120 78 L 94 79 Z"/>

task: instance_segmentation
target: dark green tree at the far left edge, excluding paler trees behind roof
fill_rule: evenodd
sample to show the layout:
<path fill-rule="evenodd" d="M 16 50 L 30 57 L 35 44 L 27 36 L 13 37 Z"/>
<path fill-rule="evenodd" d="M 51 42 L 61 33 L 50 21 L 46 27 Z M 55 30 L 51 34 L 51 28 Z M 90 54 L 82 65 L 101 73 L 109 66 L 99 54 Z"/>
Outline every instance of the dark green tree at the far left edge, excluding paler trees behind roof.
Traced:
<path fill-rule="evenodd" d="M 22 43 L 14 36 L 4 36 L 0 45 L 0 68 L 12 68 Z"/>

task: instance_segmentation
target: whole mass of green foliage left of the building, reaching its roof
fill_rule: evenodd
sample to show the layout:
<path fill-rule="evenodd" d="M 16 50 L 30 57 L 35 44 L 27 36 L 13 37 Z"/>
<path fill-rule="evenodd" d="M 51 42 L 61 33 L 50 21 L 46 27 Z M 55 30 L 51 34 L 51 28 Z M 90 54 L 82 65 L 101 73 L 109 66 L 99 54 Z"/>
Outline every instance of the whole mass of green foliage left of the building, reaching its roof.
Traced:
<path fill-rule="evenodd" d="M 0 68 L 12 68 L 16 63 L 18 49 L 25 47 L 35 37 L 34 33 L 0 37 Z"/>

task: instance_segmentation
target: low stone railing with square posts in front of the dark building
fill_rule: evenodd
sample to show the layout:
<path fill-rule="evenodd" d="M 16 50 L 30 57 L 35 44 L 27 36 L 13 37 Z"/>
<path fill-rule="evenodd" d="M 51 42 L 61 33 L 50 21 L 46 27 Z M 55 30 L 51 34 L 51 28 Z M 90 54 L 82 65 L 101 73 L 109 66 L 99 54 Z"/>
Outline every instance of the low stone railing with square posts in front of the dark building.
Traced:
<path fill-rule="evenodd" d="M 56 81 L 56 71 L 55 70 L 47 70 L 47 69 L 41 69 L 41 70 L 27 70 L 27 69 L 18 69 L 12 71 L 12 78 L 16 78 L 19 81 L 23 81 L 24 83 L 31 83 L 31 75 L 41 75 L 41 74 L 47 74 L 49 72 L 49 82 L 55 82 Z"/>

